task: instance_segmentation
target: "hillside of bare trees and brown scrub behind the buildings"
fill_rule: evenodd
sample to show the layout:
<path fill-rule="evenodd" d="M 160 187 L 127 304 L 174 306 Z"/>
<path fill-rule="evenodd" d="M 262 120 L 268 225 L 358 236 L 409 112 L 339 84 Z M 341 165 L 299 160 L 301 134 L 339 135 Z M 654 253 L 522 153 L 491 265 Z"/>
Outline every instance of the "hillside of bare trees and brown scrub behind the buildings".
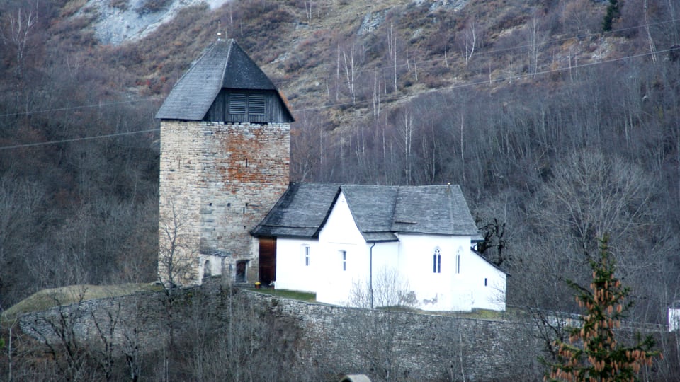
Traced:
<path fill-rule="evenodd" d="M 608 233 L 631 319 L 663 323 L 680 297 L 678 9 L 234 0 L 107 45 L 84 0 L 2 1 L 0 307 L 156 277 L 154 114 L 219 31 L 290 101 L 293 180 L 460 184 L 514 306 L 575 311 L 565 279 L 590 277 Z"/>

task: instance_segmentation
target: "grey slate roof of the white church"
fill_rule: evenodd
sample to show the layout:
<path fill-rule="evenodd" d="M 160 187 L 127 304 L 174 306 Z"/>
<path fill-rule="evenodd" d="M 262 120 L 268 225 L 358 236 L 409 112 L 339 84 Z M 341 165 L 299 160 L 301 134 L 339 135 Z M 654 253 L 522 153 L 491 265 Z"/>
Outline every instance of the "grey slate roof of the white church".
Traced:
<path fill-rule="evenodd" d="M 343 192 L 365 241 L 396 241 L 395 233 L 479 236 L 458 185 L 379 186 L 291 183 L 251 232 L 254 236 L 318 237 Z"/>

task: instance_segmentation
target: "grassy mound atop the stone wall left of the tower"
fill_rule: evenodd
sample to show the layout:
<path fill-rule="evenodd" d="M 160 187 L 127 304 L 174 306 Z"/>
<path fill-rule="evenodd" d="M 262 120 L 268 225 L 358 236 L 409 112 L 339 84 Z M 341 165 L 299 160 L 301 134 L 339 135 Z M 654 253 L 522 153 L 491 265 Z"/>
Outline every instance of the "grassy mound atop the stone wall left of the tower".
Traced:
<path fill-rule="evenodd" d="M 23 301 L 2 312 L 0 323 L 5 325 L 24 313 L 45 311 L 60 305 L 77 303 L 91 299 L 126 296 L 137 291 L 153 291 L 152 284 L 118 284 L 118 285 L 70 285 L 68 287 L 43 289 L 28 296 Z"/>

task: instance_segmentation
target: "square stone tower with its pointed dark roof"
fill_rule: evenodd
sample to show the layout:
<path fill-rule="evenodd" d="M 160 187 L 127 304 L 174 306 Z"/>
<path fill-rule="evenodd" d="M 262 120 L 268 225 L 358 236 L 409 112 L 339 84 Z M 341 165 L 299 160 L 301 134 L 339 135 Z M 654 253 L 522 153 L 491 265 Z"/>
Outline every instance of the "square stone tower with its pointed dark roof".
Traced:
<path fill-rule="evenodd" d="M 289 182 L 285 98 L 234 40 L 217 40 L 159 109 L 159 277 L 268 279 L 249 231 Z"/>

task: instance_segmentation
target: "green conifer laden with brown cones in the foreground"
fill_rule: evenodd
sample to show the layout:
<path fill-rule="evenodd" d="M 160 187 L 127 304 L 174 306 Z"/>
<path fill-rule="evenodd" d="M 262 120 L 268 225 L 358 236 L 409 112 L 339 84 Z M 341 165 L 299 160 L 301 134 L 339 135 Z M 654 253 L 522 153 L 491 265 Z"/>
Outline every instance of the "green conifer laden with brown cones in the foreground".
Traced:
<path fill-rule="evenodd" d="M 635 345 L 625 347 L 616 340 L 625 311 L 633 301 L 624 301 L 630 294 L 621 280 L 614 276 L 616 261 L 609 253 L 608 238 L 600 242 L 599 257 L 591 260 L 593 279 L 590 289 L 568 282 L 578 294 L 577 303 L 586 312 L 582 326 L 572 328 L 569 342 L 555 342 L 559 363 L 551 366 L 545 379 L 550 381 L 635 381 L 643 365 L 652 364 L 661 354 L 652 351 L 652 336 L 635 336 Z"/>

